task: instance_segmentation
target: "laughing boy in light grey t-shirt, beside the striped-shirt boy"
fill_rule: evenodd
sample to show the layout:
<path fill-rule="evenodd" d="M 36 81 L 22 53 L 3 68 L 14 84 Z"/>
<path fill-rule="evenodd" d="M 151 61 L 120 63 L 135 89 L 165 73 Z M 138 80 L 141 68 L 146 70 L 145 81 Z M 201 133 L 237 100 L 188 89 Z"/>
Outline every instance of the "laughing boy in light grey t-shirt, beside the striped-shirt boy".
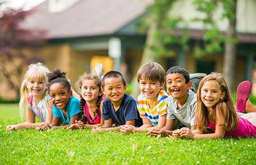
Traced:
<path fill-rule="evenodd" d="M 167 98 L 166 125 L 162 129 L 149 130 L 150 135 L 172 135 L 174 129 L 195 126 L 196 94 L 190 90 L 191 81 L 184 67 L 174 66 L 166 72 Z"/>

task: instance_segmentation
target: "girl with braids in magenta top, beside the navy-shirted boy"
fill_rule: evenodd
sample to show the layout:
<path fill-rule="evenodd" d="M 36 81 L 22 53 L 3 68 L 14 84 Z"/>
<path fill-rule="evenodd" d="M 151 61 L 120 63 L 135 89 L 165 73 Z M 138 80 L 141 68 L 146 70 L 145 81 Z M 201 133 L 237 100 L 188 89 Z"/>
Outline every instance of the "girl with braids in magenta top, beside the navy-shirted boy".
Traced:
<path fill-rule="evenodd" d="M 101 80 L 97 75 L 84 74 L 76 82 L 80 93 L 81 121 L 76 121 L 69 129 L 82 129 L 85 127 L 102 126 L 103 97 L 100 90 Z"/>

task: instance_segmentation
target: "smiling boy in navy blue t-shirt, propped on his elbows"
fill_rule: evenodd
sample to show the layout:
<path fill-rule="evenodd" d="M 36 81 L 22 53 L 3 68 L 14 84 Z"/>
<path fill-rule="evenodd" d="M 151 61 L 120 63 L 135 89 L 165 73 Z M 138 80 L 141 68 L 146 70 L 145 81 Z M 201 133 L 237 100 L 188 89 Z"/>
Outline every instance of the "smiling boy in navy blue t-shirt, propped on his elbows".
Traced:
<path fill-rule="evenodd" d="M 127 84 L 118 71 L 109 71 L 102 79 L 102 91 L 107 97 L 103 102 L 102 127 L 95 127 L 93 132 L 120 130 L 121 125 L 141 126 L 136 100 L 125 93 Z M 115 124 L 117 127 L 112 127 Z"/>

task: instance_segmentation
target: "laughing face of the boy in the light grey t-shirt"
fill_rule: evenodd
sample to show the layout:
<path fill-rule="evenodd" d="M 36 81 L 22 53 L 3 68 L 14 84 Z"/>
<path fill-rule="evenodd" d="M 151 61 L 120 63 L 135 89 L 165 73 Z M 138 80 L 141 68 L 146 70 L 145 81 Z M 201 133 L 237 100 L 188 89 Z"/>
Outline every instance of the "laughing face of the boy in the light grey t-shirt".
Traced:
<path fill-rule="evenodd" d="M 182 74 L 173 73 L 166 75 L 166 89 L 172 98 L 186 98 L 190 87 L 191 81 L 186 83 L 186 79 Z"/>

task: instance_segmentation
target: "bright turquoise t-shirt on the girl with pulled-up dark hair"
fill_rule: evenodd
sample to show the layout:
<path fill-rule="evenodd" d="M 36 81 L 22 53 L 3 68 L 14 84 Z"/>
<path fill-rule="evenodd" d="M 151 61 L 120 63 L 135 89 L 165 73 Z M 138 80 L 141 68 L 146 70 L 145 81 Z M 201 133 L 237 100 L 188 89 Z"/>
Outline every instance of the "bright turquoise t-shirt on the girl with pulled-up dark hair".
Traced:
<path fill-rule="evenodd" d="M 68 100 L 67 117 L 64 116 L 62 109 L 53 106 L 53 116 L 61 118 L 63 123 L 70 123 L 70 118 L 78 113 L 80 113 L 80 101 L 75 97 Z"/>

